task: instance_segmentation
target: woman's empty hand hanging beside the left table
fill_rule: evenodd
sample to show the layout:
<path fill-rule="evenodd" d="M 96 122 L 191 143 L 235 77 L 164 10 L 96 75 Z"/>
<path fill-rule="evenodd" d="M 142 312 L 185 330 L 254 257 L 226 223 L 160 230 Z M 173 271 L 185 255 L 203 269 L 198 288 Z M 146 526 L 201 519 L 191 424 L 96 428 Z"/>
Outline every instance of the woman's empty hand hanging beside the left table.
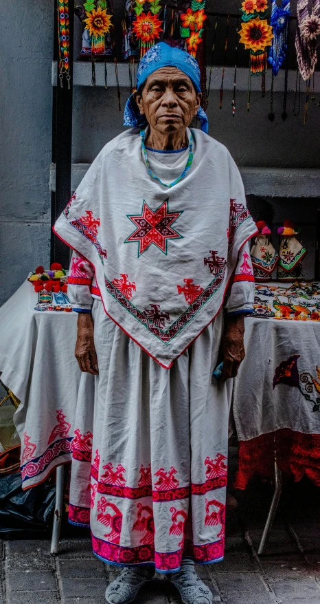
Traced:
<path fill-rule="evenodd" d="M 74 352 L 81 371 L 98 376 L 98 358 L 95 352 L 93 321 L 90 312 L 79 312 L 76 349 Z"/>

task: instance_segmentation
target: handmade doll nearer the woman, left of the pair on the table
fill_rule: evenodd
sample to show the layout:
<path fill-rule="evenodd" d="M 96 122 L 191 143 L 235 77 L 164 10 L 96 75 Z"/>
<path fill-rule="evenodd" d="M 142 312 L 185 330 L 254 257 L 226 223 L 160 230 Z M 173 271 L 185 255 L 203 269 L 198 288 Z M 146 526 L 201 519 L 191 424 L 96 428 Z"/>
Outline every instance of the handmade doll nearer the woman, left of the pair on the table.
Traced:
<path fill-rule="evenodd" d="M 271 244 L 271 230 L 264 220 L 258 220 L 259 233 L 251 248 L 251 261 L 255 281 L 271 281 L 272 272 L 277 266 L 279 256 Z"/>

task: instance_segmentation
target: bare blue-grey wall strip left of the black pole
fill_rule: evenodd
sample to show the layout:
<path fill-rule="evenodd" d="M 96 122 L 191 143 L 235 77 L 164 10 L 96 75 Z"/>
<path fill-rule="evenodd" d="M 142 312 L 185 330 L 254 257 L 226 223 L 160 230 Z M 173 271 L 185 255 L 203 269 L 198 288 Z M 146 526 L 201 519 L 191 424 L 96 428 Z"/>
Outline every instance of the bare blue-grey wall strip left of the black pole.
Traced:
<path fill-rule="evenodd" d="M 0 0 L 0 303 L 49 261 L 52 0 Z"/>

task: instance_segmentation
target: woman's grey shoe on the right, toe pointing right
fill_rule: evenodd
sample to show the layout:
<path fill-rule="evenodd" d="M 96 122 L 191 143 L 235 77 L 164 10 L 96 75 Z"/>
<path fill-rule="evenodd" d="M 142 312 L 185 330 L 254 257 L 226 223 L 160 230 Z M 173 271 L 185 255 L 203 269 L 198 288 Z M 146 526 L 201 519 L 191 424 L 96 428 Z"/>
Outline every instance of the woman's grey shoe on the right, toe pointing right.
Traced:
<path fill-rule="evenodd" d="M 192 560 L 183 560 L 179 572 L 169 575 L 171 583 L 179 591 L 183 604 L 212 604 L 209 587 L 201 581 Z"/>

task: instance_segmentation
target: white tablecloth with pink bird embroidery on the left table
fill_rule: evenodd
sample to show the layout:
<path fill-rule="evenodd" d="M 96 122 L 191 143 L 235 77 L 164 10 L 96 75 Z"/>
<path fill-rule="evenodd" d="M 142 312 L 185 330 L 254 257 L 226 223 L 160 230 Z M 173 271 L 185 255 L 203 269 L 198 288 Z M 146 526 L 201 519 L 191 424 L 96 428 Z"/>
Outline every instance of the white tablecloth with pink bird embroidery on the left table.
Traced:
<path fill-rule="evenodd" d="M 71 461 L 81 372 L 74 356 L 76 312 L 38 312 L 25 281 L 0 308 L 1 381 L 21 400 L 14 423 L 21 439 L 23 488 Z"/>

